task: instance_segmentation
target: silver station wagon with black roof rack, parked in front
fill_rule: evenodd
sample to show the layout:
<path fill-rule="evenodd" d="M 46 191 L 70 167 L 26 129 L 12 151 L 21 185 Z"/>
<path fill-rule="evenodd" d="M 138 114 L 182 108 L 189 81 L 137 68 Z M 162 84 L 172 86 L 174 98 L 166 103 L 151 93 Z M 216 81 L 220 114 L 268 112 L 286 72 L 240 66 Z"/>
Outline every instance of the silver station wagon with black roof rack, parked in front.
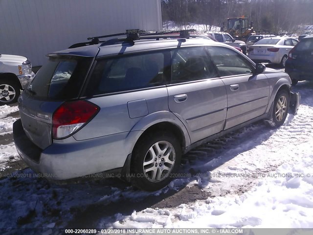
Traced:
<path fill-rule="evenodd" d="M 186 33 L 94 38 L 48 58 L 13 129 L 22 159 L 53 181 L 109 172 L 157 190 L 190 149 L 260 119 L 279 127 L 299 105 L 288 74 Z"/>

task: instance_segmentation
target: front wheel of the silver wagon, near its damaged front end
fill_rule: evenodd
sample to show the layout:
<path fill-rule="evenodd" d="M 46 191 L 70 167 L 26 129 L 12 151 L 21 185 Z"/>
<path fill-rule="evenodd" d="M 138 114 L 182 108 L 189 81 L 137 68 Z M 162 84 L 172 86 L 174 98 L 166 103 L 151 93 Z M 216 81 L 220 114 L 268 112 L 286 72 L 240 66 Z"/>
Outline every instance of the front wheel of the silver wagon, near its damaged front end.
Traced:
<path fill-rule="evenodd" d="M 290 94 L 283 90 L 276 94 L 273 111 L 270 119 L 270 125 L 278 128 L 284 124 L 289 110 Z"/>

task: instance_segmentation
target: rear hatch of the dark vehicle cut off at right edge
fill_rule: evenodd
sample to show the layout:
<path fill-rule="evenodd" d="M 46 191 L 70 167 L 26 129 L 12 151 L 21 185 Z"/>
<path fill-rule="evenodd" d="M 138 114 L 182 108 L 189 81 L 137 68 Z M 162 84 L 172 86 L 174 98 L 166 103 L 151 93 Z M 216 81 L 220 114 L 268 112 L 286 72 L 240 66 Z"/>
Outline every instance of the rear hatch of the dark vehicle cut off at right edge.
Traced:
<path fill-rule="evenodd" d="M 291 51 L 295 69 L 313 73 L 313 37 L 303 38 Z"/>

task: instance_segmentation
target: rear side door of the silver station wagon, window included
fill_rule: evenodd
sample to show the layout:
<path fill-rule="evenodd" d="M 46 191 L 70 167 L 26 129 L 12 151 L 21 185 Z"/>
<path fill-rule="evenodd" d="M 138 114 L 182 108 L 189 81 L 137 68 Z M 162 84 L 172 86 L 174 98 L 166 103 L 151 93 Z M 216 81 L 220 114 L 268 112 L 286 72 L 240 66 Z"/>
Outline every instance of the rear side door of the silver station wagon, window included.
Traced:
<path fill-rule="evenodd" d="M 191 142 L 222 131 L 227 109 L 224 83 L 203 47 L 172 50 L 168 106 L 186 126 Z"/>

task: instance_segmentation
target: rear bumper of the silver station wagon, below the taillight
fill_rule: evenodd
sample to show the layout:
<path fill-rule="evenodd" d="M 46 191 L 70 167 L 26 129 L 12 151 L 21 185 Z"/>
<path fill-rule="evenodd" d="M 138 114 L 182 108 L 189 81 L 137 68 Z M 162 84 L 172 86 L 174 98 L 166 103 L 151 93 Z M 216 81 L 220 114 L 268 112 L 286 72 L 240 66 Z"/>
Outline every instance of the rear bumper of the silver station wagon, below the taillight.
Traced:
<path fill-rule="evenodd" d="M 131 153 L 131 146 L 126 137 L 134 138 L 134 134 L 129 133 L 86 141 L 76 141 L 71 137 L 63 142 L 54 141 L 42 150 L 28 139 L 21 119 L 14 122 L 13 135 L 15 146 L 23 161 L 34 171 L 41 173 L 41 177 L 55 181 L 106 171 L 120 171 L 127 155 Z M 110 176 L 101 176 L 107 177 Z"/>

